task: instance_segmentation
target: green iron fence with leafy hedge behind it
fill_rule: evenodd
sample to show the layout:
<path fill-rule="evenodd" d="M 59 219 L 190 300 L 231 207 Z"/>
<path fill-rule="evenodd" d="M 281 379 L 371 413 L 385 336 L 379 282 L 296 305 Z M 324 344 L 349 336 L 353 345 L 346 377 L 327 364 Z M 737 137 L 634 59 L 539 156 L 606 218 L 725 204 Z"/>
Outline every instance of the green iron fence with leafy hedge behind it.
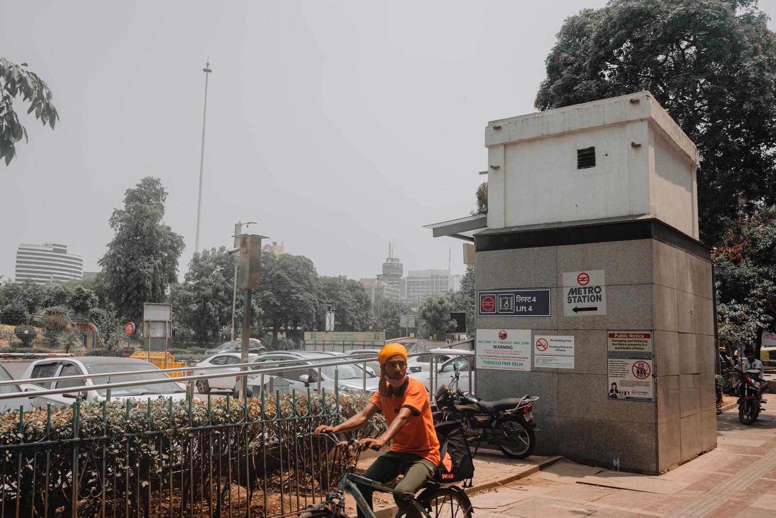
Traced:
<path fill-rule="evenodd" d="M 74 402 L 0 415 L 0 516 L 284 516 L 320 502 L 340 459 L 311 435 L 365 397 Z M 360 437 L 384 429 L 379 416 Z"/>

